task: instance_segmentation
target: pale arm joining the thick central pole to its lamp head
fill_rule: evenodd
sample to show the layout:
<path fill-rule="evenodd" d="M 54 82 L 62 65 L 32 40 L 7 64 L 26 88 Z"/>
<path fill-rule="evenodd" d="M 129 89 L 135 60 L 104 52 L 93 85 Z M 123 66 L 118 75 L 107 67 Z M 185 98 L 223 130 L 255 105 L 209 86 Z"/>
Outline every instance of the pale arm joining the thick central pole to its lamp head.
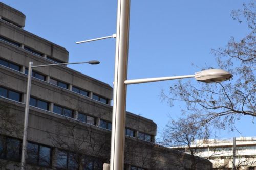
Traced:
<path fill-rule="evenodd" d="M 125 80 L 124 84 L 139 84 L 139 83 L 148 83 L 148 82 L 158 82 L 158 81 L 164 81 L 164 80 L 185 79 L 185 78 L 191 78 L 191 77 L 195 77 L 195 75 Z"/>

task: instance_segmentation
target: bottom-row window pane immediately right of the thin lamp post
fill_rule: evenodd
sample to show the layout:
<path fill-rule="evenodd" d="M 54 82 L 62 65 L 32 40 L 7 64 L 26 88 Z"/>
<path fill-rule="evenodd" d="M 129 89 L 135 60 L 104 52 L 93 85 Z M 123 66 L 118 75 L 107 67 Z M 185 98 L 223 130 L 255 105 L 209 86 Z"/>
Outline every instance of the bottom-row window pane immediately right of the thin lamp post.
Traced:
<path fill-rule="evenodd" d="M 28 143 L 27 145 L 27 161 L 30 164 L 37 164 L 38 161 L 38 145 Z"/>

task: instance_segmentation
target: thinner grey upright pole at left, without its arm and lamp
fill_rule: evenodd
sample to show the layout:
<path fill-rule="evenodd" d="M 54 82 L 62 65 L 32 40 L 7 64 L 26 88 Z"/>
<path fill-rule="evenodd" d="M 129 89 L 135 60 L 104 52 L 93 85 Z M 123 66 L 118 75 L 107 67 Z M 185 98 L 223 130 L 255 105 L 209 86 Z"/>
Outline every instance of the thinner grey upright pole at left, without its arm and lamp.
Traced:
<path fill-rule="evenodd" d="M 26 153 L 27 153 L 27 133 L 28 133 L 28 118 L 29 118 L 29 99 L 30 99 L 30 87 L 31 87 L 31 76 L 32 76 L 33 62 L 29 62 L 29 72 L 27 81 L 27 94 L 26 94 L 26 105 L 24 115 L 24 129 L 23 129 L 23 141 L 22 141 L 22 160 L 20 161 L 20 169 L 24 170 L 26 166 Z"/>

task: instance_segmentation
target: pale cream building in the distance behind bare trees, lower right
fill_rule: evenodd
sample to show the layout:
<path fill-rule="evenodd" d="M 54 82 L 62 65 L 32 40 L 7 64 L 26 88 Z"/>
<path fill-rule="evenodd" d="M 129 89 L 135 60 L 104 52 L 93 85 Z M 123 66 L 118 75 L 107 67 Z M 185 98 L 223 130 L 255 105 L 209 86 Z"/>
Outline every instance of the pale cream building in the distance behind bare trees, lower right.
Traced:
<path fill-rule="evenodd" d="M 188 147 L 174 148 L 184 149 L 185 152 L 189 153 Z M 233 162 L 235 162 L 236 169 L 256 170 L 256 137 L 197 140 L 191 145 L 191 149 L 195 151 L 195 155 L 209 159 L 214 169 L 232 169 Z M 235 161 L 233 161 L 233 156 Z"/>

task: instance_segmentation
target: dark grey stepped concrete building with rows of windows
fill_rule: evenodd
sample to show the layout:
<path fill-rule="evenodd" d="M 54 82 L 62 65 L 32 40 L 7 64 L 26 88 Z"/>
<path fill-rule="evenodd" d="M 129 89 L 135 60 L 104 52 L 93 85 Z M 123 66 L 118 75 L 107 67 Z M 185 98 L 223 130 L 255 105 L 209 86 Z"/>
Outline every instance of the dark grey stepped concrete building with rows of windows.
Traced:
<path fill-rule="evenodd" d="M 28 64 L 67 63 L 69 52 L 26 30 L 0 3 L 0 169 L 19 169 Z M 34 68 L 27 169 L 102 169 L 110 159 L 112 87 L 66 66 Z M 188 154 L 155 144 L 157 126 L 126 113 L 125 169 L 187 169 Z M 178 158 L 178 159 L 177 159 Z M 211 169 L 204 159 L 198 169 Z"/>

